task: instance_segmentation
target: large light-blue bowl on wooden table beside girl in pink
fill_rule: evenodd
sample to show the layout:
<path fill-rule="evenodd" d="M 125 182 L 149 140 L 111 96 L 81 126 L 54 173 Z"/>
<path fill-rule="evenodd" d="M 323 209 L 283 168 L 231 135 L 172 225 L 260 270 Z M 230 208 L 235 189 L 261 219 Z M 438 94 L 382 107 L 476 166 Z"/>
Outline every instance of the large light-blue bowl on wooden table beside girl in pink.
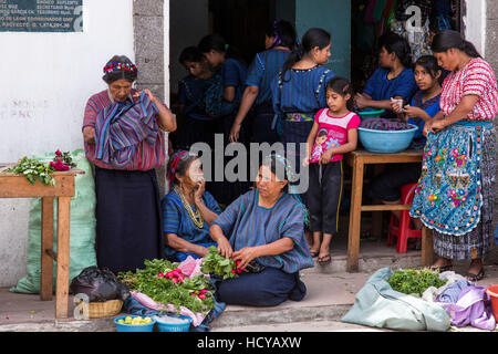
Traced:
<path fill-rule="evenodd" d="M 360 142 L 372 153 L 400 153 L 406 149 L 412 143 L 415 132 L 418 129 L 415 125 L 406 131 L 376 131 L 367 128 L 357 128 Z"/>

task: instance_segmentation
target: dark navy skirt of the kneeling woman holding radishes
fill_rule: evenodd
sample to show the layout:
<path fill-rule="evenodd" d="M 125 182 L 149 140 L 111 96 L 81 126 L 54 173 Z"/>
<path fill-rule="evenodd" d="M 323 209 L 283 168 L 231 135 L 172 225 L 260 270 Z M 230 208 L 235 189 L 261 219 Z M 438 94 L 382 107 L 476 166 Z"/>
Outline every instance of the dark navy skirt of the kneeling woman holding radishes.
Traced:
<path fill-rule="evenodd" d="M 217 284 L 216 298 L 220 302 L 246 306 L 277 306 L 286 300 L 301 301 L 307 287 L 299 272 L 267 267 L 260 273 L 242 273 Z"/>

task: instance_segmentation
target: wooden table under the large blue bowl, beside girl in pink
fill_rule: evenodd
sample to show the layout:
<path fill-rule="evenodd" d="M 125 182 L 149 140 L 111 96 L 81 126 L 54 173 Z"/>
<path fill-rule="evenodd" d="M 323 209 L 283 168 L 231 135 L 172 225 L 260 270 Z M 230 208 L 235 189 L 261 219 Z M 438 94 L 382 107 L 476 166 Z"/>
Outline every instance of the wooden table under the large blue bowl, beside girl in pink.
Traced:
<path fill-rule="evenodd" d="M 351 187 L 350 230 L 347 239 L 347 271 L 359 271 L 361 215 L 362 211 L 409 210 L 409 205 L 362 205 L 364 166 L 369 164 L 408 164 L 422 163 L 422 150 L 404 150 L 395 154 L 371 153 L 364 149 L 345 155 L 346 163 L 353 168 Z M 422 230 L 422 266 L 432 263 L 433 239 L 432 232 L 423 227 Z"/>

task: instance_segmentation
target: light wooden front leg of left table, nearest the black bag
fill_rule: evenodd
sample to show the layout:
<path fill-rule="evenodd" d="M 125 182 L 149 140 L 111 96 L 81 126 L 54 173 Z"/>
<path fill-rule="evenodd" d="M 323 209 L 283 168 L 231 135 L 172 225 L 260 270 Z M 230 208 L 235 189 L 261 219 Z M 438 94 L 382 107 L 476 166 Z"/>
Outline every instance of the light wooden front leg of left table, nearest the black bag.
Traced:
<path fill-rule="evenodd" d="M 59 197 L 55 317 L 68 317 L 70 271 L 70 197 Z"/>

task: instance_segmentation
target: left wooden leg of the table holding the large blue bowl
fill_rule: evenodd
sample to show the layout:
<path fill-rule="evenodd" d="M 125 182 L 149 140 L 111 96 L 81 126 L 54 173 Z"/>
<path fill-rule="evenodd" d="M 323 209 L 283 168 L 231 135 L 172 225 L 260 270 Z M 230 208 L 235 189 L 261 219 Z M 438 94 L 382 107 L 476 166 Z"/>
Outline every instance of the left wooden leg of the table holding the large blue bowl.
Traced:
<path fill-rule="evenodd" d="M 351 210 L 350 210 L 350 230 L 347 239 L 347 264 L 349 272 L 359 271 L 360 256 L 360 231 L 362 218 L 362 192 L 363 192 L 363 160 L 354 157 L 353 178 L 351 187 Z"/>

